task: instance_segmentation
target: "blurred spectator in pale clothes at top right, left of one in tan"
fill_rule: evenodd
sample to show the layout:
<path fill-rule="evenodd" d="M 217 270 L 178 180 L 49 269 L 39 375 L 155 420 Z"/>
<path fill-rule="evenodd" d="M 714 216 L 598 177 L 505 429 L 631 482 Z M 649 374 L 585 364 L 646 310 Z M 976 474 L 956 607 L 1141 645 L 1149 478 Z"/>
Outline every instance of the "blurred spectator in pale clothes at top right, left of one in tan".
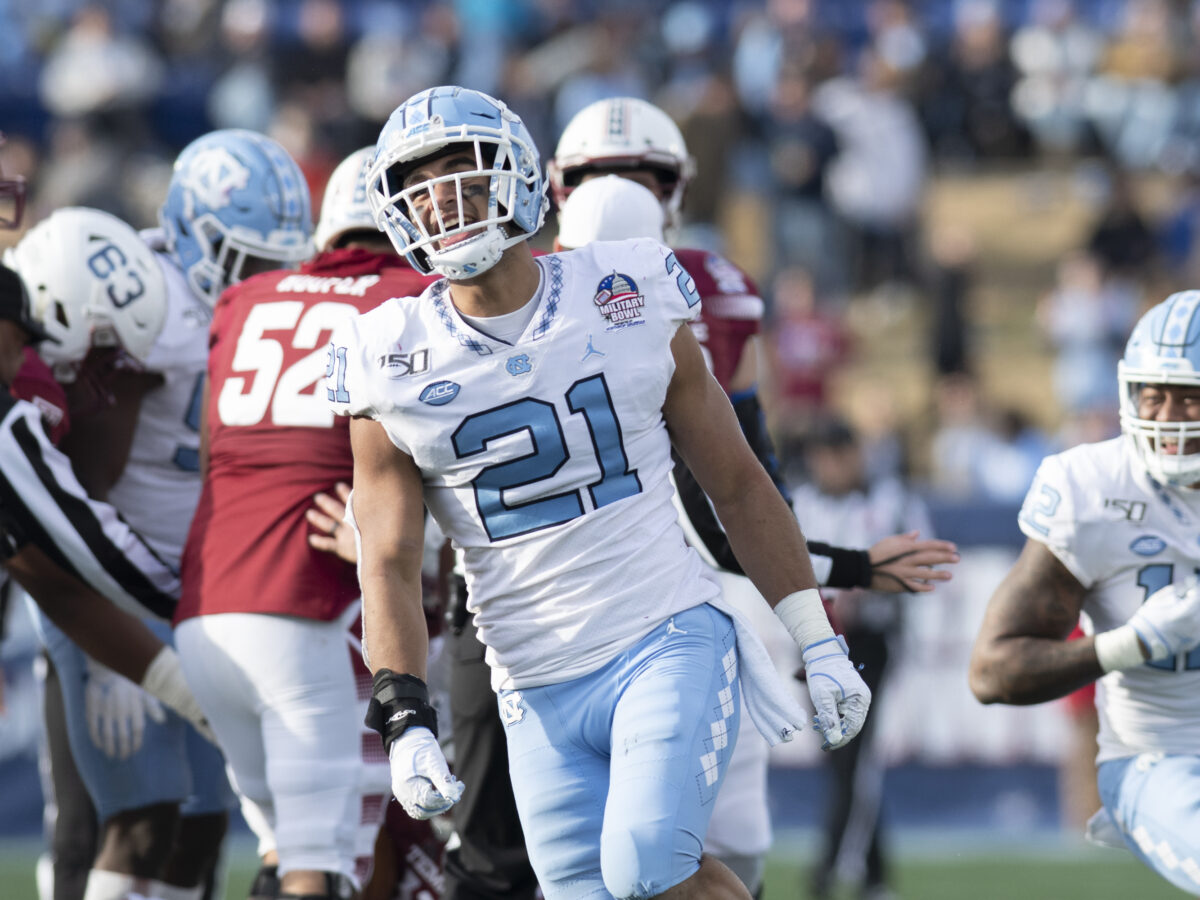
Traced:
<path fill-rule="evenodd" d="M 1103 36 L 1079 17 L 1074 0 L 1036 0 L 1030 22 L 1013 35 L 1013 110 L 1043 150 L 1063 155 L 1094 145 L 1087 85 L 1103 50 Z"/>

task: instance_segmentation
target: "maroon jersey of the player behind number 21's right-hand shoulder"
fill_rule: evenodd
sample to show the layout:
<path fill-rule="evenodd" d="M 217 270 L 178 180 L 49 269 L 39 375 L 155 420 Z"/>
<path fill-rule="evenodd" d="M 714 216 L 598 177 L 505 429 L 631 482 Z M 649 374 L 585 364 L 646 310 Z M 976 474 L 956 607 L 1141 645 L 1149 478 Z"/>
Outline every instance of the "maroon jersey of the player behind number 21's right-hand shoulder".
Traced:
<path fill-rule="evenodd" d="M 691 330 L 707 352 L 713 374 L 728 394 L 746 341 L 758 334 L 762 324 L 758 287 L 720 253 L 677 250 L 674 254 L 695 280 L 700 294 L 700 318 L 691 323 Z"/>

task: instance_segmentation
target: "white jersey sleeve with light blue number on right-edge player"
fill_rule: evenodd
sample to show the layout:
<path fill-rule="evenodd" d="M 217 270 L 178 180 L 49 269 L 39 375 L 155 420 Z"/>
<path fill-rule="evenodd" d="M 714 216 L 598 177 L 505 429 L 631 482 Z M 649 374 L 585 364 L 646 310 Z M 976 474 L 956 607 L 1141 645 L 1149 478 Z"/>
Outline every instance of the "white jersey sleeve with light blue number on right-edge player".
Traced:
<path fill-rule="evenodd" d="M 1026 538 L 1044 544 L 1084 587 L 1099 577 L 1103 560 L 1092 559 L 1079 521 L 1078 485 L 1062 456 L 1048 456 L 1038 467 L 1018 524 Z"/>

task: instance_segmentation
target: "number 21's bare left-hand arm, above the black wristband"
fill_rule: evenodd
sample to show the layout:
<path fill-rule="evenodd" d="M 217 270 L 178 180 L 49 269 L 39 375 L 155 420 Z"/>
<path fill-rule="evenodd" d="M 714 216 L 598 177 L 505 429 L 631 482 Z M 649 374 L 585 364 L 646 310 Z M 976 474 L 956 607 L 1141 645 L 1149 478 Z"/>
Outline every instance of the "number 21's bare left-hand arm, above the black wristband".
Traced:
<path fill-rule="evenodd" d="M 359 530 L 362 643 L 372 671 L 425 678 L 428 632 L 421 607 L 425 506 L 412 457 L 383 427 L 350 421 L 354 449 L 352 512 Z"/>

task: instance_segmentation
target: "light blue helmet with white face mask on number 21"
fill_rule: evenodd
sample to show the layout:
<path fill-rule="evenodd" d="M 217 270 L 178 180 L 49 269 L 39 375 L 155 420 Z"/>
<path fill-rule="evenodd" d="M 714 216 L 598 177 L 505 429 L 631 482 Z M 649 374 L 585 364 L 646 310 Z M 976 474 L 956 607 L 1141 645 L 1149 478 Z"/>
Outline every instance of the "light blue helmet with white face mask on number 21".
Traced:
<path fill-rule="evenodd" d="M 404 176 L 422 160 L 456 145 L 474 154 L 475 167 L 404 187 Z M 460 222 L 463 181 L 487 179 L 487 210 L 476 222 Z M 418 203 L 432 199 L 443 184 L 455 186 L 457 211 L 427 228 Z M 367 202 L 396 252 L 422 275 L 454 281 L 481 275 L 508 247 L 541 228 L 550 200 L 533 137 L 521 118 L 480 91 L 430 88 L 404 101 L 388 119 L 367 174 Z"/>

